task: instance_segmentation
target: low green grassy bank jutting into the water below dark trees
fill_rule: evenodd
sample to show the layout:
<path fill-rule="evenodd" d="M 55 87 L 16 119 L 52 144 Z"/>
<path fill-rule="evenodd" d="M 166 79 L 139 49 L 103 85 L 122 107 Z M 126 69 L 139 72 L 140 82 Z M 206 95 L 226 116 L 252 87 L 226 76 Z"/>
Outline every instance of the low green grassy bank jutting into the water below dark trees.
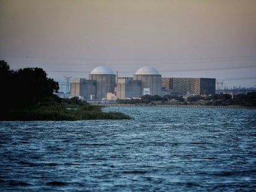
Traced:
<path fill-rule="evenodd" d="M 38 107 L 38 109 L 11 109 L 0 111 L 0 120 L 121 120 L 132 119 L 129 115 L 121 112 L 103 112 L 100 106 L 74 105 L 66 107 L 65 105 Z"/>

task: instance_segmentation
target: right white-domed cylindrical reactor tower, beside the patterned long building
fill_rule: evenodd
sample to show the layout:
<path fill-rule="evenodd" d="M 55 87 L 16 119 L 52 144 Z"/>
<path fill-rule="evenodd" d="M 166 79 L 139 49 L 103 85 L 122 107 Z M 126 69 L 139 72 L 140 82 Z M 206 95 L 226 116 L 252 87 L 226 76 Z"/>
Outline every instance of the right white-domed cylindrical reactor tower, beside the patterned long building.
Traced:
<path fill-rule="evenodd" d="M 161 95 L 161 75 L 155 68 L 141 67 L 134 74 L 134 80 L 142 81 L 142 95 Z"/>

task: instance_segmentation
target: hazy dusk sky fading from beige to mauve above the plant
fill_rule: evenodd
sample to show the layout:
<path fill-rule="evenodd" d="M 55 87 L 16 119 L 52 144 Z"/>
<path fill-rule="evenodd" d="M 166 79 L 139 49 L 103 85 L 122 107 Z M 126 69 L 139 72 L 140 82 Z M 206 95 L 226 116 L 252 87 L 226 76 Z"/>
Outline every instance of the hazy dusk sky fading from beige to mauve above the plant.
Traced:
<path fill-rule="evenodd" d="M 0 0 L 0 59 L 13 70 L 88 78 L 100 65 L 132 77 L 216 78 L 256 87 L 255 0 Z"/>

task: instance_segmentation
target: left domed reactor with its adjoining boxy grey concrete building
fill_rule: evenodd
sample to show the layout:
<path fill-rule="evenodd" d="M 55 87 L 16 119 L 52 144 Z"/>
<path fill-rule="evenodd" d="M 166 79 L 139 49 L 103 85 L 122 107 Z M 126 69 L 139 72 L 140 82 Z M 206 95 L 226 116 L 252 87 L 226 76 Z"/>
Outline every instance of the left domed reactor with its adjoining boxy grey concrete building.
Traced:
<path fill-rule="evenodd" d="M 70 94 L 87 100 L 101 101 L 106 98 L 107 93 L 114 92 L 116 75 L 109 67 L 96 67 L 90 72 L 89 78 L 75 78 L 70 84 Z"/>

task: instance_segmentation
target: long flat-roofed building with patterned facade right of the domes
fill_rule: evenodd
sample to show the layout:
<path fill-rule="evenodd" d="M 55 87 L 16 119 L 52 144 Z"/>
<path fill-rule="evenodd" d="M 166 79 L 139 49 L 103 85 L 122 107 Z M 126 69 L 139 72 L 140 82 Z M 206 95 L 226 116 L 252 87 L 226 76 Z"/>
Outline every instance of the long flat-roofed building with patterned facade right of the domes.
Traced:
<path fill-rule="evenodd" d="M 215 94 L 215 78 L 162 78 L 162 86 L 174 94 Z"/>

